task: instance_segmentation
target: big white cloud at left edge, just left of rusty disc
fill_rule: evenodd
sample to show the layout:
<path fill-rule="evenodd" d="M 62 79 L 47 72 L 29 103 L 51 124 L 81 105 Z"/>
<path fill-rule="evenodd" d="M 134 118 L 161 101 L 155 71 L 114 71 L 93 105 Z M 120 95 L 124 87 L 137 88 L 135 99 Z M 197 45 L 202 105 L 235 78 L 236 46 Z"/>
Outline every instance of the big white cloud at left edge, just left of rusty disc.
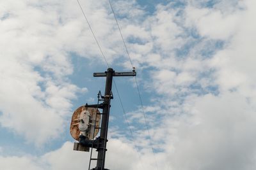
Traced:
<path fill-rule="evenodd" d="M 4 57 L 0 60 L 3 80 L 0 85 L 1 125 L 35 143 L 58 137 L 64 125 L 63 118 L 72 106 L 71 99 L 76 98 L 80 89 L 44 78 L 18 59 Z"/>

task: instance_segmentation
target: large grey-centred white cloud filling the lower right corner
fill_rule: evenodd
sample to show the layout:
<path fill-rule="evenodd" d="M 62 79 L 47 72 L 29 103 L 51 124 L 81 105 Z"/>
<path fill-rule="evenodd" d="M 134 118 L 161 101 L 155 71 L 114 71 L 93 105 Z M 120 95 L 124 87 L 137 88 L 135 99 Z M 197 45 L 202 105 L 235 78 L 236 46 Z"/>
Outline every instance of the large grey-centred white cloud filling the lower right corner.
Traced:
<path fill-rule="evenodd" d="M 190 102 L 193 116 L 177 126 L 177 141 L 169 153 L 173 169 L 255 167 L 256 117 L 246 98 L 227 93 L 195 97 Z"/>

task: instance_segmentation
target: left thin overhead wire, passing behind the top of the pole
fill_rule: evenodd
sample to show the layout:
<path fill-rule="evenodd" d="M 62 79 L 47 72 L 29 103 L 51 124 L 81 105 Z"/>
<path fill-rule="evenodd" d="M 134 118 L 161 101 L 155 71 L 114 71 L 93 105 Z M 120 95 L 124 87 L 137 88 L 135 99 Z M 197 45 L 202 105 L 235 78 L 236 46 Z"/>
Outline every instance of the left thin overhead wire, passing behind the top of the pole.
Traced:
<path fill-rule="evenodd" d="M 97 38 L 96 38 L 96 36 L 95 36 L 95 34 L 94 34 L 93 30 L 92 30 L 92 27 L 91 27 L 91 25 L 90 25 L 90 22 L 88 21 L 86 15 L 85 15 L 85 13 L 84 13 L 84 10 L 83 10 L 81 4 L 79 3 L 79 0 L 77 0 L 77 3 L 79 4 L 79 7 L 80 7 L 80 9 L 81 9 L 81 11 L 82 11 L 82 13 L 83 13 L 83 16 L 84 16 L 84 18 L 85 18 L 85 20 L 86 20 L 88 26 L 90 27 L 90 31 L 92 32 L 93 38 L 95 39 L 95 41 L 96 41 L 96 43 L 97 43 L 97 46 L 99 47 L 100 53 L 102 54 L 102 57 L 104 57 L 104 60 L 105 60 L 105 62 L 106 62 L 106 65 L 109 67 L 108 61 L 107 61 L 107 59 L 106 59 L 104 53 L 102 52 L 102 48 L 101 48 L 100 45 L 99 45 L 99 41 L 97 40 Z M 119 29 L 120 29 L 120 28 L 119 28 Z M 124 40 L 124 39 L 123 39 L 123 40 Z M 127 51 L 127 53 L 129 53 L 129 52 Z M 131 59 L 130 59 L 130 62 L 132 62 Z M 115 85 L 115 89 L 116 89 L 116 92 L 117 92 L 118 99 L 119 99 L 119 101 L 120 101 L 120 105 L 121 105 L 121 107 L 122 107 L 122 110 L 123 110 L 123 113 L 124 113 L 124 116 L 125 116 L 125 120 L 126 120 L 126 122 L 127 122 L 129 131 L 130 131 L 130 134 L 131 134 L 131 137 L 132 137 L 132 141 L 134 141 L 135 139 L 134 139 L 134 136 L 133 136 L 133 134 L 132 134 L 132 130 L 131 130 L 131 127 L 130 127 L 130 125 L 129 125 L 126 112 L 125 112 L 125 110 L 124 110 L 124 104 L 122 103 L 122 100 L 121 100 L 121 97 L 120 97 L 120 94 L 119 94 L 119 91 L 118 91 L 118 87 L 117 87 L 117 85 L 116 85 L 116 82 L 115 82 L 114 79 L 113 79 L 113 81 L 114 81 L 114 85 Z M 138 149 L 137 149 L 137 148 L 136 148 L 136 150 L 137 150 L 137 152 L 138 152 Z M 91 153 L 91 154 L 92 154 L 92 153 Z M 138 155 L 139 155 L 139 158 L 140 158 L 140 160 L 141 160 L 141 157 L 140 157 L 139 152 L 138 152 Z M 142 164 L 141 164 L 141 166 L 143 167 Z M 89 168 L 90 168 L 90 166 L 89 166 Z M 144 168 L 143 168 L 143 169 L 144 169 Z"/>

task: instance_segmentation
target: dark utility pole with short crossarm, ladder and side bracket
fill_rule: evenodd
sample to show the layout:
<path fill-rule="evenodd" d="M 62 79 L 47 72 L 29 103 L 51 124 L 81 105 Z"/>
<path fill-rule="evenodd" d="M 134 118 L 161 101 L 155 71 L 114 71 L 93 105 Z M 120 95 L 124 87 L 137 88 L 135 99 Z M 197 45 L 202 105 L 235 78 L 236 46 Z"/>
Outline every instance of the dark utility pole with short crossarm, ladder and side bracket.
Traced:
<path fill-rule="evenodd" d="M 112 95 L 112 81 L 113 76 L 136 76 L 135 68 L 133 68 L 132 72 L 115 72 L 112 68 L 108 68 L 107 71 L 104 73 L 93 73 L 94 77 L 103 77 L 106 76 L 106 87 L 105 87 L 105 94 L 102 97 L 103 103 L 99 104 L 92 104 L 88 105 L 86 104 L 84 107 L 86 108 L 100 108 L 102 109 L 102 113 L 97 113 L 102 115 L 101 125 L 99 127 L 100 129 L 100 136 L 96 138 L 95 140 L 90 140 L 86 138 L 86 136 L 79 136 L 79 143 L 74 143 L 74 150 L 79 151 L 87 151 L 89 148 L 96 148 L 98 152 L 97 159 L 92 159 L 92 156 L 90 158 L 91 160 L 97 160 L 97 166 L 93 168 L 92 170 L 108 170 L 105 169 L 105 159 L 106 159 L 106 145 L 108 142 L 108 122 L 109 122 L 109 110 L 110 110 L 110 103 L 111 99 L 113 99 Z M 99 99 L 99 96 L 98 96 Z M 96 122 L 96 120 L 95 120 Z M 72 126 L 72 125 L 71 125 Z M 96 129 L 97 127 L 94 126 Z M 94 131 L 95 131 L 94 129 Z M 94 134 L 94 133 L 93 133 Z"/>

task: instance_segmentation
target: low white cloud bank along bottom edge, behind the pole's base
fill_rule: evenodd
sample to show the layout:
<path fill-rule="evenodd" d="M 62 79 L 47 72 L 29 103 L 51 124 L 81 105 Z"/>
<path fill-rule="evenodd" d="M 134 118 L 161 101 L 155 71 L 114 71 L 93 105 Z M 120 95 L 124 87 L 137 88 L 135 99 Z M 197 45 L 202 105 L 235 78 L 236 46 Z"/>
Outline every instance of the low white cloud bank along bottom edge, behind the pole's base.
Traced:
<path fill-rule="evenodd" d="M 131 144 L 123 143 L 120 140 L 113 139 L 108 145 L 107 164 L 109 169 L 136 169 L 140 167 L 138 153 Z M 93 153 L 93 157 L 97 157 Z M 3 170 L 14 169 L 86 169 L 88 168 L 90 152 L 77 152 L 73 150 L 73 143 L 66 142 L 58 150 L 45 153 L 41 157 L 31 157 L 24 155 L 22 157 L 1 157 L 0 163 Z M 148 160 L 147 160 L 148 161 Z M 15 162 L 15 164 L 13 164 Z M 149 165 L 148 165 L 149 166 Z M 95 167 L 95 160 L 92 160 L 91 168 Z"/>

